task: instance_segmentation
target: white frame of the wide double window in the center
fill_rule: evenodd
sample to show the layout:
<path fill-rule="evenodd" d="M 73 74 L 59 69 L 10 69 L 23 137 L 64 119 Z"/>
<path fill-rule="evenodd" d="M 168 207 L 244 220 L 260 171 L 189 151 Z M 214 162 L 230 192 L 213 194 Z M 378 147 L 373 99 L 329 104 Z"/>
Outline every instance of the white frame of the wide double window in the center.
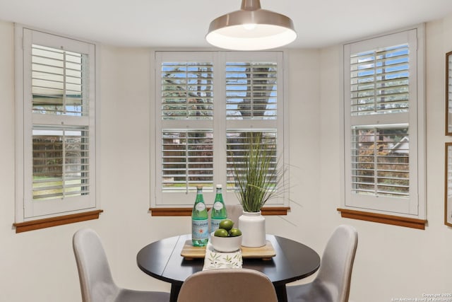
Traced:
<path fill-rule="evenodd" d="M 165 54 L 165 59 L 161 59 L 159 57 L 161 54 Z M 189 57 L 193 55 L 193 57 Z M 176 195 L 173 195 L 173 202 L 162 202 L 162 192 L 160 187 L 160 176 L 158 171 L 161 170 L 160 168 L 160 129 L 162 127 L 160 126 L 162 119 L 160 117 L 160 107 L 161 107 L 161 88 L 160 88 L 160 75 L 161 72 L 161 65 L 160 62 L 169 62 L 171 60 L 180 60 L 182 62 L 190 62 L 194 59 L 203 59 L 203 61 L 206 61 L 206 57 L 209 57 L 212 59 L 213 66 L 215 69 L 215 66 L 225 66 L 225 62 L 227 61 L 225 59 L 225 56 L 229 56 L 231 59 L 230 62 L 233 62 L 233 59 L 239 60 L 242 59 L 244 62 L 259 62 L 260 60 L 268 60 L 268 57 L 273 56 L 273 58 L 278 59 L 278 132 L 280 132 L 281 139 L 278 140 L 278 149 L 280 152 L 281 158 L 283 158 L 283 161 L 281 163 L 287 167 L 289 156 L 288 156 L 288 131 L 287 131 L 287 125 L 288 120 L 287 118 L 284 119 L 282 117 L 286 116 L 287 114 L 287 100 L 284 98 L 285 91 L 287 90 L 287 83 L 284 81 L 287 69 L 285 66 L 287 65 L 287 62 L 284 60 L 284 51 L 266 51 L 266 52 L 216 52 L 211 50 L 153 50 L 152 51 L 152 62 L 151 62 L 151 68 L 153 70 L 152 76 L 151 76 L 151 89 L 155 91 L 153 95 L 151 95 L 151 103 L 150 106 L 150 115 L 151 120 L 155 119 L 153 123 L 150 124 L 151 131 L 150 131 L 150 141 L 155 141 L 155 146 L 151 146 L 150 148 L 150 210 L 155 211 L 155 214 L 157 216 L 167 216 L 167 213 L 174 213 L 177 212 L 172 211 L 171 208 L 174 209 L 182 209 L 187 206 L 191 207 L 195 198 L 196 190 L 194 192 L 187 192 L 187 193 L 180 193 L 179 198 L 176 197 Z M 246 60 L 245 60 L 246 58 Z M 217 67 L 218 68 L 218 67 Z M 225 136 L 227 124 L 228 122 L 226 117 L 226 107 L 225 107 L 225 76 L 219 75 L 220 72 L 225 73 L 225 70 L 216 70 L 215 81 L 214 81 L 214 118 L 211 121 L 213 124 L 213 135 L 214 135 L 214 157 L 217 158 L 224 158 L 224 161 L 215 161 L 213 163 L 213 169 L 215 170 L 225 170 L 226 169 L 226 144 L 225 139 L 224 141 L 221 141 L 222 135 Z M 215 85 L 217 81 L 220 81 L 222 85 Z M 220 100 L 220 98 L 222 98 Z M 218 102 L 221 102 L 221 105 L 218 105 Z M 220 118 L 218 118 L 220 116 Z M 181 124 L 183 124 L 185 120 L 181 121 Z M 191 121 L 189 121 L 191 122 Z M 204 121 L 204 123 L 209 123 Z M 261 121 L 256 121 L 253 123 L 251 128 L 260 129 L 262 123 Z M 288 173 L 285 173 L 283 182 L 285 185 L 288 186 Z M 203 192 L 204 200 L 206 200 L 206 204 L 210 204 L 213 202 L 213 199 L 215 197 L 215 184 L 221 183 L 224 187 L 226 186 L 226 175 L 218 175 L 218 173 L 214 172 L 213 175 L 213 190 L 210 192 Z M 266 203 L 266 207 L 274 207 L 276 209 L 277 207 L 284 207 L 285 209 L 283 211 L 287 211 L 288 209 L 288 197 L 287 192 L 283 192 L 281 197 L 275 197 L 274 199 L 271 199 L 269 202 Z M 225 197 L 225 200 L 228 200 L 228 203 L 236 203 L 237 197 L 235 196 L 234 192 L 229 192 L 228 190 L 224 190 L 223 195 Z M 159 209 L 162 209 L 162 213 L 166 214 L 160 214 Z M 169 209 L 167 211 L 167 209 Z M 181 213 L 184 214 L 181 214 Z M 275 213 L 275 212 L 272 212 Z M 179 214 L 176 215 L 185 215 L 185 211 L 180 211 Z"/>

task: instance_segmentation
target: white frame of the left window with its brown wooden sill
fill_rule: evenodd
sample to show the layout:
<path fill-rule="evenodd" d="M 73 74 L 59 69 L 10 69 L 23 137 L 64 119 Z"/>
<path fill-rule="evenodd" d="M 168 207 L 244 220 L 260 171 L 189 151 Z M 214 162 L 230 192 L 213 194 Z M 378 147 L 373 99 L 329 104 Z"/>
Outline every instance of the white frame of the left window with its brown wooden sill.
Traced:
<path fill-rule="evenodd" d="M 79 40 L 74 37 L 50 33 L 38 30 L 26 25 L 15 24 L 15 70 L 16 70 L 16 232 L 31 231 L 37 228 L 57 226 L 61 224 L 97 219 L 102 212 L 99 190 L 96 190 L 99 151 L 99 140 L 96 139 L 99 128 L 96 120 L 100 112 L 98 101 L 99 83 L 98 59 L 96 59 L 97 45 L 94 42 Z M 88 198 L 75 198 L 76 202 L 64 202 L 64 199 L 49 199 L 32 201 L 32 129 L 35 125 L 52 124 L 52 118 L 38 117 L 32 113 L 32 102 L 25 103 L 31 96 L 31 46 L 32 44 L 64 49 L 89 56 L 89 113 L 83 117 L 88 122 L 78 122 L 77 117 L 60 116 L 59 120 L 65 125 L 81 126 L 87 124 L 89 127 L 89 183 L 90 191 Z M 30 68 L 28 68 L 30 67 Z M 66 197 L 67 198 L 67 197 Z M 69 197 L 70 199 L 71 197 Z M 67 200 L 67 199 L 66 199 Z"/>

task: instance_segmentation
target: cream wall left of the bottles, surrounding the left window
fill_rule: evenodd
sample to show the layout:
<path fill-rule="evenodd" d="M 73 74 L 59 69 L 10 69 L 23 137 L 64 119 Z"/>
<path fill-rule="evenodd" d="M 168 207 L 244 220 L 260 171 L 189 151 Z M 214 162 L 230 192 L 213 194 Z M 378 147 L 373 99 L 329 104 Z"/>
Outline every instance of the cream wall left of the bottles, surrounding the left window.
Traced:
<path fill-rule="evenodd" d="M 149 208 L 150 52 L 101 47 L 100 219 L 16 234 L 14 222 L 13 25 L 0 21 L 0 301 L 81 301 L 71 239 L 100 233 L 117 283 L 169 291 L 136 266 L 144 245 L 188 233 L 189 217 L 151 217 Z"/>

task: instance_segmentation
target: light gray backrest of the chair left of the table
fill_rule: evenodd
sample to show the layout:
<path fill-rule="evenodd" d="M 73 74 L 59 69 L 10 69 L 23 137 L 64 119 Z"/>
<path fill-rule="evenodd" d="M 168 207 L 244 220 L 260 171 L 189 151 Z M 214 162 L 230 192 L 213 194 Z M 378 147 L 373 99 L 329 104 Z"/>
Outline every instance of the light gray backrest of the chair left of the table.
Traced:
<path fill-rule="evenodd" d="M 114 284 L 97 233 L 89 228 L 81 229 L 73 235 L 72 243 L 83 302 L 109 301 L 108 297 L 117 296 L 119 288 Z"/>

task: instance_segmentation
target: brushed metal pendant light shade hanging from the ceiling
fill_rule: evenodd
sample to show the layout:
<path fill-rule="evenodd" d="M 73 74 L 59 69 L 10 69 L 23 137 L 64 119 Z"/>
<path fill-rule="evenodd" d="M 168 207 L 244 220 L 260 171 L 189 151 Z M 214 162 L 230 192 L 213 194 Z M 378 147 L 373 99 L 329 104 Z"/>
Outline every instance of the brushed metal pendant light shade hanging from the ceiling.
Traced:
<path fill-rule="evenodd" d="M 260 0 L 242 0 L 239 11 L 210 23 L 206 40 L 227 50 L 268 50 L 287 45 L 296 37 L 290 18 L 261 9 Z"/>

